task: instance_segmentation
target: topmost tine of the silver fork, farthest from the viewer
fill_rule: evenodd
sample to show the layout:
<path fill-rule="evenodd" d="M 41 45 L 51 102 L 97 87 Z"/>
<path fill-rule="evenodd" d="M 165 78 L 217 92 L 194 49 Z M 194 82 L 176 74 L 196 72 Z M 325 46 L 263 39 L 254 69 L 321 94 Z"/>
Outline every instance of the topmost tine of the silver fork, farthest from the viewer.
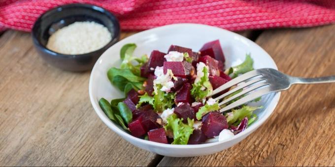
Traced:
<path fill-rule="evenodd" d="M 215 95 L 215 94 L 217 94 L 217 93 L 219 93 L 219 92 L 221 92 L 221 91 L 223 91 L 227 88 L 230 88 L 230 87 L 234 86 L 237 83 L 241 83 L 245 80 L 248 80 L 250 78 L 253 78 L 253 77 L 256 77 L 256 76 L 259 76 L 259 75 L 261 75 L 261 74 L 259 74 L 257 70 L 253 70 L 253 71 L 249 71 L 247 73 L 244 73 L 244 74 L 234 78 L 233 80 L 221 85 L 220 87 L 216 88 L 215 90 L 213 90 L 213 93 L 210 94 L 210 95 L 207 95 L 207 97 L 213 96 L 213 95 Z"/>

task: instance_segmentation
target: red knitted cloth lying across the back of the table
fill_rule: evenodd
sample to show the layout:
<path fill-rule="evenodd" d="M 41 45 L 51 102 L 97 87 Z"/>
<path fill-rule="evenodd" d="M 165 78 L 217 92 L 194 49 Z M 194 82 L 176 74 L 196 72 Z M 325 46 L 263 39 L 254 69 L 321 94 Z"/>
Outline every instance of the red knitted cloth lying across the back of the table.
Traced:
<path fill-rule="evenodd" d="M 0 0 L 0 30 L 30 31 L 45 11 L 74 2 L 111 11 L 123 30 L 173 23 L 201 23 L 234 31 L 335 23 L 335 0 Z"/>

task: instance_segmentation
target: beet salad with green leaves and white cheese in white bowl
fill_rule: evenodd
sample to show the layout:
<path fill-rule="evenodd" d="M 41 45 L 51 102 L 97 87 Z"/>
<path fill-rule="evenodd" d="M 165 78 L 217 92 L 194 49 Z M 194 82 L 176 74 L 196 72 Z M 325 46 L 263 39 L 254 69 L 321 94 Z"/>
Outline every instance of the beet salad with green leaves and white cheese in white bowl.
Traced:
<path fill-rule="evenodd" d="M 261 107 L 242 105 L 220 113 L 218 101 L 206 98 L 213 89 L 253 70 L 250 55 L 240 65 L 225 68 L 219 40 L 205 43 L 199 52 L 171 45 L 167 53 L 154 50 L 150 57 L 133 56 L 135 48 L 133 43 L 124 45 L 120 68 L 107 72 L 125 98 L 99 101 L 107 117 L 134 137 L 201 144 L 232 138 L 257 119 L 253 111 Z"/>

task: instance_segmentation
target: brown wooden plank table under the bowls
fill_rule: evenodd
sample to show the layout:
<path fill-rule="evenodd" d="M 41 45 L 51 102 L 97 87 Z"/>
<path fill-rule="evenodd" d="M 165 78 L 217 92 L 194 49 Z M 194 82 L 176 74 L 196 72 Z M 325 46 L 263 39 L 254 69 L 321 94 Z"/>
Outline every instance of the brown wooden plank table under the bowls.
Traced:
<path fill-rule="evenodd" d="M 242 34 L 287 74 L 335 75 L 335 25 Z M 270 118 L 227 150 L 171 158 L 108 129 L 91 106 L 89 76 L 48 65 L 29 33 L 0 36 L 0 166 L 335 166 L 335 84 L 283 92 Z"/>

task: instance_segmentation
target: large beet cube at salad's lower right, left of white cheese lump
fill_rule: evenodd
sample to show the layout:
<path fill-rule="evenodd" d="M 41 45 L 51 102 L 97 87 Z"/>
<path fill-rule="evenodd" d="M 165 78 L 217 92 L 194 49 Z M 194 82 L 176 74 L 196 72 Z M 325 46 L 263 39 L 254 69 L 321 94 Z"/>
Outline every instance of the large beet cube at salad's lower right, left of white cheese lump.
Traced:
<path fill-rule="evenodd" d="M 218 136 L 223 129 L 228 128 L 227 119 L 220 112 L 209 112 L 208 116 L 202 118 L 201 131 L 208 138 Z"/>

